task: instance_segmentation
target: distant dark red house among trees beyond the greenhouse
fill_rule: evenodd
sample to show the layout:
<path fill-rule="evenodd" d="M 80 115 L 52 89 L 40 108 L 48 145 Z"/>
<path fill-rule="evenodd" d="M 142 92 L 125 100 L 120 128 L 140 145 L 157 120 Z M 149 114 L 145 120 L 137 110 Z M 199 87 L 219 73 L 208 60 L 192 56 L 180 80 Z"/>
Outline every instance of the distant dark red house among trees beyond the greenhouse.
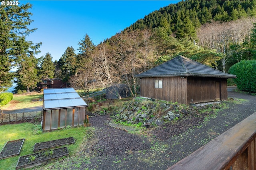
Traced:
<path fill-rule="evenodd" d="M 63 82 L 61 78 L 42 78 L 39 86 L 40 89 L 66 87 L 66 82 Z"/>

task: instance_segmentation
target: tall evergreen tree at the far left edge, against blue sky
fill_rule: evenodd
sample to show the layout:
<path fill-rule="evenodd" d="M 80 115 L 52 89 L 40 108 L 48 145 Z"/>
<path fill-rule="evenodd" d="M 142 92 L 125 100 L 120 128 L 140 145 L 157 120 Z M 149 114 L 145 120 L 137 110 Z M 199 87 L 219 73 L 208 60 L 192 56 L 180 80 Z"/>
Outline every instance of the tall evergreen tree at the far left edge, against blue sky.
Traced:
<path fill-rule="evenodd" d="M 0 6 L 0 92 L 12 86 L 14 74 L 10 70 L 24 60 L 30 49 L 37 51 L 41 45 L 25 39 L 36 30 L 28 28 L 32 23 L 32 14 L 28 12 L 31 7 L 31 4 Z"/>

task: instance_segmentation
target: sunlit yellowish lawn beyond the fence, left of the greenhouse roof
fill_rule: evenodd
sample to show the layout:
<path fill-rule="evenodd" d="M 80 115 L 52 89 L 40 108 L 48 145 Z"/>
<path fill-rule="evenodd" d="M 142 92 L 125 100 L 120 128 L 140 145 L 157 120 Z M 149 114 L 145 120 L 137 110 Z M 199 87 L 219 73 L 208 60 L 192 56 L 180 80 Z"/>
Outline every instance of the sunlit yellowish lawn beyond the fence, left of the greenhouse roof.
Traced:
<path fill-rule="evenodd" d="M 41 101 L 39 101 L 41 99 Z M 34 106 L 42 106 L 43 105 L 43 94 L 31 94 L 31 95 L 14 95 L 12 99 L 12 104 L 8 103 L 0 109 L 2 110 L 12 110 L 14 109 L 23 109 L 27 107 L 34 107 Z"/>

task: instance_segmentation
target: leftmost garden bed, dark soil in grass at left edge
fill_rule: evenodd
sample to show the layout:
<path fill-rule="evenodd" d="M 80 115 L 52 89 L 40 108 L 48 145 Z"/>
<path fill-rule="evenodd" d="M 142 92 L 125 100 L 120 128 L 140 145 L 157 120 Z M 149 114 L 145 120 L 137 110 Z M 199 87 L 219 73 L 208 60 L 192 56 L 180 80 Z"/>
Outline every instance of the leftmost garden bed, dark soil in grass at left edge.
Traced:
<path fill-rule="evenodd" d="M 24 143 L 24 139 L 17 139 L 14 141 L 8 141 L 2 151 L 0 152 L 0 159 L 10 158 L 20 154 L 21 147 Z"/>

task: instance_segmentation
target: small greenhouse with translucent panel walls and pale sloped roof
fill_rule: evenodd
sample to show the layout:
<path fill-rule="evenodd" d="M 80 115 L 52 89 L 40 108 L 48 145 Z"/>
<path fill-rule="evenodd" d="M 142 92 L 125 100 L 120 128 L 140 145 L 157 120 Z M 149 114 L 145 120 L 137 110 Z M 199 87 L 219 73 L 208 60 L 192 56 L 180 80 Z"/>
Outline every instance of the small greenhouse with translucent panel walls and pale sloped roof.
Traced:
<path fill-rule="evenodd" d="M 42 129 L 83 125 L 86 107 L 74 88 L 44 89 Z"/>

